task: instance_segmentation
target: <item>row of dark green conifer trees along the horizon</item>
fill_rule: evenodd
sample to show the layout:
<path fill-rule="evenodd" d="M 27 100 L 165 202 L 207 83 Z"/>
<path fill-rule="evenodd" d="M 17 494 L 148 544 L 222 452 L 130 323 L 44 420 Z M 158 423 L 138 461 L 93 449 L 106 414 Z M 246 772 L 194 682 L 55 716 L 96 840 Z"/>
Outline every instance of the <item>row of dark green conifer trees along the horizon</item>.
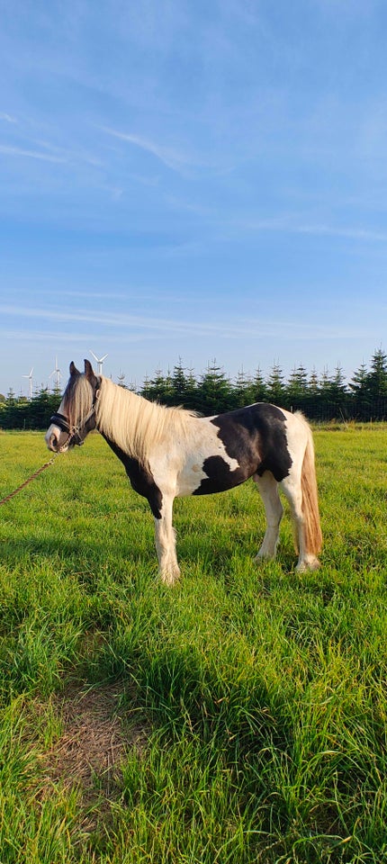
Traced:
<path fill-rule="evenodd" d="M 327 370 L 319 376 L 315 370 L 308 374 L 300 364 L 286 379 L 275 363 L 267 376 L 257 367 L 254 375 L 241 371 L 231 381 L 216 360 L 197 377 L 184 367 L 181 358 L 167 374 L 158 369 L 153 378 L 146 376 L 139 389 L 124 382 L 125 376 L 120 375 L 119 386 L 148 400 L 181 405 L 209 416 L 266 401 L 287 410 L 302 410 L 308 419 L 317 421 L 387 419 L 387 354 L 382 348 L 377 348 L 370 364 L 362 363 L 347 383 L 339 365 L 333 374 Z M 10 390 L 0 401 L 0 428 L 47 428 L 59 401 L 59 388 L 49 391 L 41 387 L 31 399 L 16 397 Z"/>

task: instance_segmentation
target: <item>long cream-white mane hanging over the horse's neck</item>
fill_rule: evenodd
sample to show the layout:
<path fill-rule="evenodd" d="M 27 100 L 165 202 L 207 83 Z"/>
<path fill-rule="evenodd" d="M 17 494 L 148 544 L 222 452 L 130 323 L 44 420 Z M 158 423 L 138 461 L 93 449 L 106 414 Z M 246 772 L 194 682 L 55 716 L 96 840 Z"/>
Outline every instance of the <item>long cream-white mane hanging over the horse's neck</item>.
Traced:
<path fill-rule="evenodd" d="M 146 464 L 150 450 L 166 437 L 187 436 L 194 412 L 150 402 L 101 377 L 95 404 L 97 427 L 128 455 Z"/>

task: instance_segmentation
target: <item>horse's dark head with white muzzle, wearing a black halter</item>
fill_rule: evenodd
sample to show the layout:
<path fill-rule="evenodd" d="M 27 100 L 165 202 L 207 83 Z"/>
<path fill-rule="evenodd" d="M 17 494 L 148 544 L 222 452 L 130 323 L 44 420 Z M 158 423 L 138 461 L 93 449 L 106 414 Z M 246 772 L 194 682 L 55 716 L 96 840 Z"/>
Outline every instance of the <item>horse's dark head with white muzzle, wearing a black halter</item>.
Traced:
<path fill-rule="evenodd" d="M 100 385 L 101 380 L 94 374 L 88 360 L 85 360 L 84 373 L 78 372 L 74 363 L 70 363 L 67 388 L 46 432 L 49 450 L 65 453 L 84 443 L 87 434 L 96 426 L 95 402 Z"/>

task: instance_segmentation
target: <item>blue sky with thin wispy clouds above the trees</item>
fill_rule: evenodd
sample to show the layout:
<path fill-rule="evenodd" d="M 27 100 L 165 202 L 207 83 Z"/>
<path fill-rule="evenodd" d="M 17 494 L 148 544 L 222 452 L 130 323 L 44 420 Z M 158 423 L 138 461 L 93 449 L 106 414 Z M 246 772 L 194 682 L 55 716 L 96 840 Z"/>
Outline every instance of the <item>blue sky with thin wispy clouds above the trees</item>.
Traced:
<path fill-rule="evenodd" d="M 0 392 L 387 350 L 383 0 L 0 0 Z M 50 379 L 52 383 L 52 378 Z"/>

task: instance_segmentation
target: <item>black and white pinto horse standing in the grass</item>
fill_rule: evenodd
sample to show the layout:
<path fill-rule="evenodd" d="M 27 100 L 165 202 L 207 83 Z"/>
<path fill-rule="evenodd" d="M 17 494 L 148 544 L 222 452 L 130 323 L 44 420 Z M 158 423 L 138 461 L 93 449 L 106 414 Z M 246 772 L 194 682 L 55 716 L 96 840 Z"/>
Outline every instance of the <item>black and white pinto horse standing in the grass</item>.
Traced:
<path fill-rule="evenodd" d="M 322 545 L 311 428 L 302 414 L 266 402 L 202 417 L 148 401 L 101 374 L 85 360 L 71 362 L 58 412 L 50 418 L 49 450 L 81 446 L 97 429 L 123 464 L 134 491 L 148 500 L 155 522 L 158 569 L 172 585 L 180 576 L 175 550 L 175 497 L 207 495 L 252 477 L 266 510 L 266 533 L 256 561 L 274 559 L 284 509 L 290 505 L 297 572 L 316 570 Z"/>

